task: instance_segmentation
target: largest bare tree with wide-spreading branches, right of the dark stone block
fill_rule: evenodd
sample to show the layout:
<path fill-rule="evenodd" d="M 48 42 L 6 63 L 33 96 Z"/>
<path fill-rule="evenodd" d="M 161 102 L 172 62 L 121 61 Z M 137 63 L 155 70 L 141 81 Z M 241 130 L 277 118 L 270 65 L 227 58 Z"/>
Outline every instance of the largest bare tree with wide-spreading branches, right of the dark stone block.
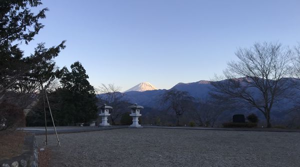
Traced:
<path fill-rule="evenodd" d="M 280 100 L 289 85 L 292 51 L 278 43 L 255 43 L 253 47 L 239 48 L 224 70 L 223 81 L 215 81 L 214 97 L 227 99 L 241 107 L 256 108 L 271 127 L 273 104 Z M 243 78 L 241 78 L 243 77 Z M 216 78 L 220 79 L 220 78 Z"/>

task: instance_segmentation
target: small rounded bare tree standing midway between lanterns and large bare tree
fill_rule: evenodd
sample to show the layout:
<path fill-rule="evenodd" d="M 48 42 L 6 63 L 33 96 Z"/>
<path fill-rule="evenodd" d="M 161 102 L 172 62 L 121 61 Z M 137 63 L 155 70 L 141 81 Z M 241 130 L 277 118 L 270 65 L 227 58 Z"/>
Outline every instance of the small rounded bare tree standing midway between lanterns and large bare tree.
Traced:
<path fill-rule="evenodd" d="M 190 107 L 193 98 L 185 91 L 176 89 L 167 90 L 161 97 L 161 103 L 167 105 L 176 116 L 176 126 L 179 126 L 179 117 Z"/>

